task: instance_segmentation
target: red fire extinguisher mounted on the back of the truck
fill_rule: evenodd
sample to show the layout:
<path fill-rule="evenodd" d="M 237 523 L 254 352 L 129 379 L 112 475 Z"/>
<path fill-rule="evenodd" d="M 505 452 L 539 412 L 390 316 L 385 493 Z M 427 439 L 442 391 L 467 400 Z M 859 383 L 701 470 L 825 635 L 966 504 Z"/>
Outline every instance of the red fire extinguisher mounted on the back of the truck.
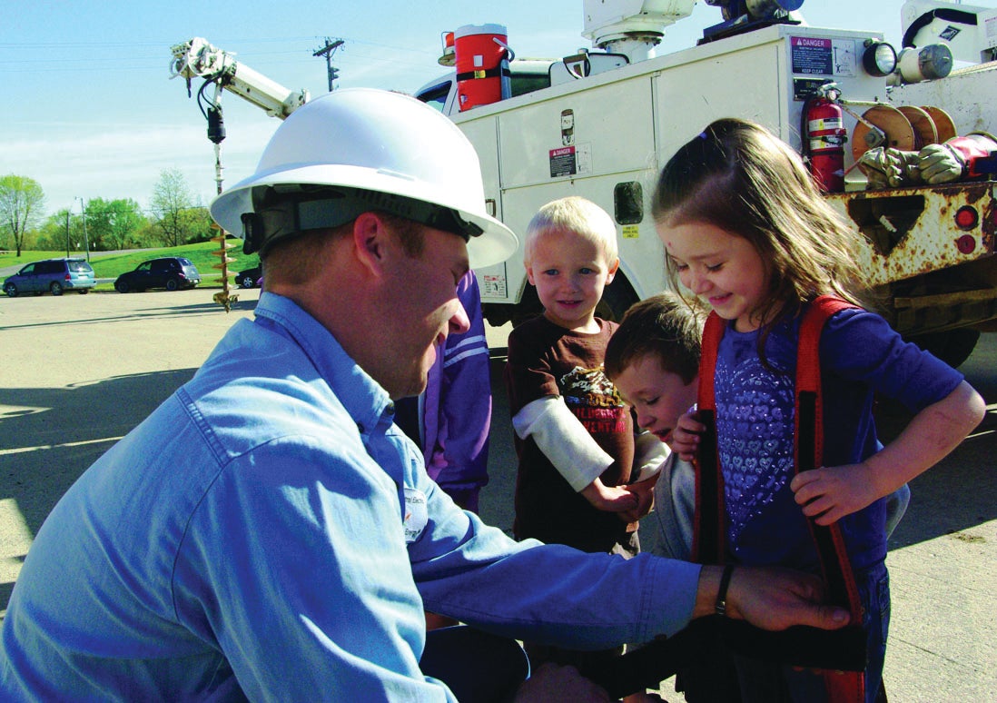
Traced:
<path fill-rule="evenodd" d="M 824 192 L 844 190 L 843 114 L 836 104 L 840 93 L 822 86 L 804 105 L 804 147 L 811 175 Z"/>

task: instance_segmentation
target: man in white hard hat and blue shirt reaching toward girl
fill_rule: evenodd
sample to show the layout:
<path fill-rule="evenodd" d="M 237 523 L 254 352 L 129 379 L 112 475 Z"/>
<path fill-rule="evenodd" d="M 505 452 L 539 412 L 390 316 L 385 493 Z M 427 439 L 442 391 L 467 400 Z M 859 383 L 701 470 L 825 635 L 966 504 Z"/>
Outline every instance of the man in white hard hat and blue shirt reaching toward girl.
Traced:
<path fill-rule="evenodd" d="M 428 478 L 393 400 L 467 329 L 469 265 L 516 248 L 485 211 L 472 146 L 431 108 L 319 98 L 211 214 L 261 254 L 255 320 L 39 530 L 3 625 L 4 700 L 467 700 L 476 678 L 500 699 L 495 671 L 515 668 L 496 666 L 500 638 L 607 648 L 717 602 L 770 629 L 843 624 L 809 577 L 739 569 L 725 592 L 719 567 L 517 543 Z M 460 640 L 488 672 L 471 688 L 432 675 L 425 610 L 490 633 Z M 605 698 L 549 670 L 517 700 L 550 686 Z"/>

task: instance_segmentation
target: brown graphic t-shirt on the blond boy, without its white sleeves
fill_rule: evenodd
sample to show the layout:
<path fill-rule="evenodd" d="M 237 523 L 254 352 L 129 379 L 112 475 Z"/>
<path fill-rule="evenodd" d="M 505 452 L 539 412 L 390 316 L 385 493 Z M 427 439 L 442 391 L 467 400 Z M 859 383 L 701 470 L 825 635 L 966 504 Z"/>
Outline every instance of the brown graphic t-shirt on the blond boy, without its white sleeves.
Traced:
<path fill-rule="evenodd" d="M 616 329 L 600 320 L 594 334 L 571 332 L 544 317 L 509 334 L 505 386 L 509 411 L 546 396 L 560 396 L 598 445 L 615 462 L 600 477 L 607 486 L 628 483 L 633 464 L 633 422 L 629 408 L 602 370 L 606 344 Z M 618 515 L 599 511 L 575 492 L 536 446 L 532 437 L 514 438 L 519 469 L 515 487 L 517 539 L 535 537 L 585 551 L 610 551 L 629 544 L 628 526 Z"/>

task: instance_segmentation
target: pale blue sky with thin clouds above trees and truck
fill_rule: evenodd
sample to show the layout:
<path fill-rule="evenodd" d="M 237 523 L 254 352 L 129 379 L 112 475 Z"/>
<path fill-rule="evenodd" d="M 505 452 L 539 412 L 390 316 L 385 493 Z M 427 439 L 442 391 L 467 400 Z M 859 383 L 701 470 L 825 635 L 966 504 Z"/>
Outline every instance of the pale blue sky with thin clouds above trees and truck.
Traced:
<path fill-rule="evenodd" d="M 994 0 L 975 3 L 991 6 Z M 814 26 L 866 29 L 898 46 L 901 0 L 810 0 Z M 76 198 L 131 197 L 146 206 L 166 169 L 178 169 L 206 204 L 215 193 L 214 152 L 196 99 L 169 80 L 170 47 L 192 37 L 286 88 L 327 90 L 324 38 L 343 39 L 336 86 L 413 92 L 444 72 L 441 34 L 497 23 L 520 57 L 561 57 L 589 47 L 582 0 L 504 2 L 199 2 L 0 0 L 0 175 L 37 180 L 47 211 Z M 697 3 L 666 32 L 658 54 L 693 46 L 719 8 Z M 191 90 L 196 94 L 200 81 Z M 235 96 L 223 99 L 224 184 L 249 176 L 275 118 Z"/>

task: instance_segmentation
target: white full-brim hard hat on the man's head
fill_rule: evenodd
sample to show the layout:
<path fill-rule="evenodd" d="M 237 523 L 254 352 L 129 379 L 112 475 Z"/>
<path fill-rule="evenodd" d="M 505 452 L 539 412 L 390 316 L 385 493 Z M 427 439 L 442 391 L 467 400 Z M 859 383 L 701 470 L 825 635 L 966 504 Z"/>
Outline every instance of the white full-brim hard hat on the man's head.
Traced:
<path fill-rule="evenodd" d="M 309 200 L 325 186 L 335 199 L 312 199 L 307 213 L 304 207 L 279 212 L 283 228 L 269 227 L 247 248 L 291 229 L 335 226 L 365 209 L 470 235 L 475 267 L 505 260 L 518 245 L 515 234 L 485 210 L 478 155 L 464 133 L 415 98 L 369 88 L 333 91 L 293 112 L 270 139 L 256 173 L 214 198 L 211 216 L 226 231 L 251 238 L 243 222 L 252 220 L 262 193 Z"/>

